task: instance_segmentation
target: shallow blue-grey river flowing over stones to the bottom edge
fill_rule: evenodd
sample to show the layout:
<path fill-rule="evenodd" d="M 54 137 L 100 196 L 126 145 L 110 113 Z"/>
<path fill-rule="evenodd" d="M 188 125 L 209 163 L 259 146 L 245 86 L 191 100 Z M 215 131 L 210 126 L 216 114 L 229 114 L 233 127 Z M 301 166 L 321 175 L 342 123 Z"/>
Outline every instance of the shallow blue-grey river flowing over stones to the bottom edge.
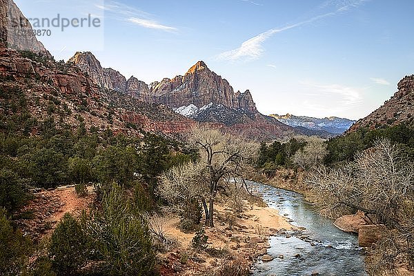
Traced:
<path fill-rule="evenodd" d="M 262 194 L 268 206 L 291 219 L 291 224 L 306 228 L 302 235 L 270 237 L 268 255 L 275 259 L 257 262 L 253 275 L 366 275 L 356 235 L 337 229 L 298 193 L 255 182 L 250 182 L 250 188 Z"/>

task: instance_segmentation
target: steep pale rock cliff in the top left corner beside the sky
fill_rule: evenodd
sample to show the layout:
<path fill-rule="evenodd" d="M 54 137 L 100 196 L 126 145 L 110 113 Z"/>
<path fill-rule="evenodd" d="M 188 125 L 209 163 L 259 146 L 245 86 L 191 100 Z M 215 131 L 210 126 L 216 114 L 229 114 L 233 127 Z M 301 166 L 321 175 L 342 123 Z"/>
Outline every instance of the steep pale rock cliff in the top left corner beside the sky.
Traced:
<path fill-rule="evenodd" d="M 33 34 L 30 21 L 10 0 L 0 0 L 0 44 L 14 50 L 36 52 L 52 58 L 50 52 Z"/>

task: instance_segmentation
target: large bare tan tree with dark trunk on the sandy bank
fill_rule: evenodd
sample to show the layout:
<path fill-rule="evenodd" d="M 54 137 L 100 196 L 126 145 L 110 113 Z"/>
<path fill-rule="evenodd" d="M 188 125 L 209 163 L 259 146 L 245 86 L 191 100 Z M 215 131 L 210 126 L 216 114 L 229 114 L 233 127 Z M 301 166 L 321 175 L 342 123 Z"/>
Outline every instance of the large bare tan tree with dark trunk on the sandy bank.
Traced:
<path fill-rule="evenodd" d="M 244 168 L 255 159 L 257 144 L 206 128 L 196 128 L 189 141 L 199 148 L 199 160 L 166 172 L 161 177 L 159 191 L 162 197 L 177 206 L 190 198 L 199 199 L 206 226 L 214 227 L 217 193 L 225 192 L 229 185 L 237 186 L 233 179 L 244 179 Z M 246 186 L 243 180 L 241 183 L 242 187 Z"/>

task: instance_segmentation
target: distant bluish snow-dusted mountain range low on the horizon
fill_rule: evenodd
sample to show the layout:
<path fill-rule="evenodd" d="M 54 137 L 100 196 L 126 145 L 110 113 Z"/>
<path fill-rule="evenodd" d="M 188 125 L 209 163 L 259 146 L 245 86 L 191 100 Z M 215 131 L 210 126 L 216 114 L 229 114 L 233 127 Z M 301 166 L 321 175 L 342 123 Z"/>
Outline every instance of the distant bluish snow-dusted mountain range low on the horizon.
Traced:
<path fill-rule="evenodd" d="M 302 127 L 308 130 L 316 131 L 326 131 L 332 133 L 333 135 L 340 135 L 348 130 L 355 121 L 350 119 L 338 118 L 338 117 L 326 117 L 323 119 L 305 117 L 305 116 L 295 116 L 295 115 L 270 115 L 271 117 L 277 119 L 278 121 L 286 124 L 288 126 Z"/>

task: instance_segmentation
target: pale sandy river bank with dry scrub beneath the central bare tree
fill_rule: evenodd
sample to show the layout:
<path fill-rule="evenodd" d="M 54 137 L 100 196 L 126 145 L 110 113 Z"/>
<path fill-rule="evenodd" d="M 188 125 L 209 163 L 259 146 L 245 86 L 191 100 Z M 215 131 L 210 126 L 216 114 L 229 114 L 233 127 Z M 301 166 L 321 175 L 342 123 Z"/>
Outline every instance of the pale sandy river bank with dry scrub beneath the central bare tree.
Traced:
<path fill-rule="evenodd" d="M 165 221 L 164 230 L 177 246 L 161 254 L 161 275 L 249 275 L 257 259 L 273 259 L 267 255 L 269 237 L 275 233 L 296 231 L 288 219 L 275 208 L 257 206 L 244 201 L 245 211 L 230 224 L 227 214 L 232 210 L 225 202 L 215 204 L 215 228 L 205 228 L 207 250 L 194 250 L 191 246 L 195 233 L 179 230 L 179 217 Z"/>

